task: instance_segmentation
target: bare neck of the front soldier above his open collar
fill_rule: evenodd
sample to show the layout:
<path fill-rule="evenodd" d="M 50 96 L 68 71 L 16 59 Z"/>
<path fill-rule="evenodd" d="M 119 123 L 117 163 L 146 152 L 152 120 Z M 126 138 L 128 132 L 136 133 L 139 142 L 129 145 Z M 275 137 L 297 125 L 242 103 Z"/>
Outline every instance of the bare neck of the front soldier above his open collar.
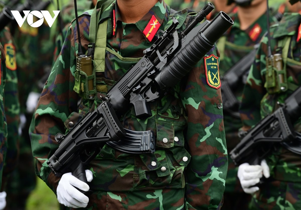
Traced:
<path fill-rule="evenodd" d="M 159 0 L 117 0 L 120 16 L 124 23 L 136 23 L 139 21 Z"/>

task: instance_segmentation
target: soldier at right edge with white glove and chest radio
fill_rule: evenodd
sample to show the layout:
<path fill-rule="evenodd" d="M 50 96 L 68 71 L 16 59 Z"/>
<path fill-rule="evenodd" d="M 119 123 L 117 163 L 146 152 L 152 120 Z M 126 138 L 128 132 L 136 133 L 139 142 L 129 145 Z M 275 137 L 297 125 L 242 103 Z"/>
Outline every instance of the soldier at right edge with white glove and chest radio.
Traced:
<path fill-rule="evenodd" d="M 299 4 L 298 0 L 290 2 Z M 245 131 L 273 113 L 300 86 L 300 23 L 300 14 L 285 13 L 280 23 L 271 26 L 272 52 L 268 50 L 268 36 L 262 39 L 242 96 L 240 113 Z M 275 56 L 279 57 L 277 60 L 280 63 L 271 66 L 266 62 L 266 59 Z M 277 76 L 273 77 L 275 74 Z M 293 117 L 299 118 L 293 127 L 300 132 L 300 116 Z M 239 166 L 238 177 L 244 191 L 255 193 L 250 208 L 301 209 L 301 154 L 294 150 L 301 145 L 297 139 L 293 142 L 295 145 L 287 143 L 285 146 L 274 146 L 265 160 L 261 160 L 261 165 L 244 163 Z M 271 177 L 254 187 L 259 183 L 262 173 L 265 178 Z"/>

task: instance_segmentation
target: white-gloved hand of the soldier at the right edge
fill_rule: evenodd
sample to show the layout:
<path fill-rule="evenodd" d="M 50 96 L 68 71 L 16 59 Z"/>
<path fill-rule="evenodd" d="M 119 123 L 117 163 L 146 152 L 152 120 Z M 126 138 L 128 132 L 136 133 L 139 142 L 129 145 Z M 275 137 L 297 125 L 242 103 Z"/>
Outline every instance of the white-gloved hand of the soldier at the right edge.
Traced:
<path fill-rule="evenodd" d="M 245 193 L 252 194 L 259 190 L 259 187 L 251 186 L 259 183 L 262 174 L 265 178 L 270 177 L 270 168 L 265 160 L 262 160 L 260 165 L 243 163 L 238 167 L 237 176 Z"/>

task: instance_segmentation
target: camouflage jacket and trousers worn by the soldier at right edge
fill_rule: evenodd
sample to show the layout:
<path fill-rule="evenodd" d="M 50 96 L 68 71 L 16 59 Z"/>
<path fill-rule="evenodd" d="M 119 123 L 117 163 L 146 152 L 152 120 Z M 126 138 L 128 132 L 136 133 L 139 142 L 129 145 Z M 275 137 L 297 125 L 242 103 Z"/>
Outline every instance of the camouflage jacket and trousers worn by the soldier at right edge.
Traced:
<path fill-rule="evenodd" d="M 301 15 L 298 13 L 286 13 L 279 24 L 271 27 L 272 54 L 286 51 L 286 72 L 289 84 L 300 85 L 300 48 L 298 37 L 300 31 Z M 300 33 L 300 32 L 299 32 Z M 299 34 L 301 35 L 301 34 Z M 290 39 L 290 40 L 289 40 Z M 281 41 L 282 40 L 282 41 Z M 288 40 L 287 50 L 283 48 L 283 40 Z M 298 40 L 298 41 L 297 41 Z M 247 84 L 243 91 L 241 103 L 241 118 L 245 129 L 255 125 L 265 116 L 273 113 L 284 99 L 292 93 L 287 90 L 281 94 L 268 94 L 265 88 L 266 60 L 268 38 L 264 37 L 260 43 L 256 60 L 250 69 Z M 281 47 L 281 48 L 280 48 Z M 284 56 L 286 57 L 286 56 Z M 296 131 L 300 130 L 300 121 L 294 125 Z M 266 181 L 253 196 L 250 207 L 252 209 L 300 209 L 301 208 L 301 161 L 300 155 L 290 152 L 284 147 L 277 147 L 266 158 L 270 168 L 271 179 Z"/>

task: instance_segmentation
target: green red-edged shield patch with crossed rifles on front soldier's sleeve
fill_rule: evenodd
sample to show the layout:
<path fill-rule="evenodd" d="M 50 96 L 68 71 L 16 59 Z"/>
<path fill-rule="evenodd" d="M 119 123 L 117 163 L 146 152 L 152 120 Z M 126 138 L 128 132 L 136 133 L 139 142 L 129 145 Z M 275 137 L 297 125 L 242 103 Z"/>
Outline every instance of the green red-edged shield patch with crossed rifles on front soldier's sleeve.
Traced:
<path fill-rule="evenodd" d="M 208 57 L 204 57 L 204 62 L 208 85 L 218 89 L 221 86 L 221 81 L 219 79 L 218 57 L 212 54 Z"/>

